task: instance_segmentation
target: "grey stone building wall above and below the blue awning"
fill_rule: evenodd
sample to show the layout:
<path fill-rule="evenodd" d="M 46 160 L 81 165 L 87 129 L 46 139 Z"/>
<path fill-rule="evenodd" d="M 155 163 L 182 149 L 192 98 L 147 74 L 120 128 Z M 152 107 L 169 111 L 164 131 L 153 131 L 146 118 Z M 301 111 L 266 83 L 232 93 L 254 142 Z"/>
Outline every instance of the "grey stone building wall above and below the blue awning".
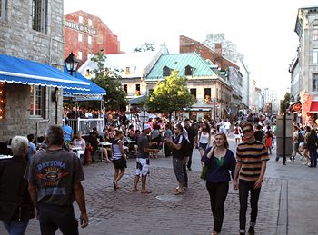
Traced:
<path fill-rule="evenodd" d="M 0 15 L 0 54 L 62 69 L 63 0 L 0 1 L 4 4 Z M 40 136 L 49 124 L 62 124 L 60 89 L 17 83 L 2 83 L 1 87 L 1 110 L 5 115 L 0 120 L 0 142 L 28 133 Z"/>

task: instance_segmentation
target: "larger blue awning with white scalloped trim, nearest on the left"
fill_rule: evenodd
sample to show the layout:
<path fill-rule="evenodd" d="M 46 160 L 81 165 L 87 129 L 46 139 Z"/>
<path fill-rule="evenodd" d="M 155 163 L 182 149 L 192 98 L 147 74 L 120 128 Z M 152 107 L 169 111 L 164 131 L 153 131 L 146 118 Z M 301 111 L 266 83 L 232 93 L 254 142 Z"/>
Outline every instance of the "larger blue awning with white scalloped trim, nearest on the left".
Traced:
<path fill-rule="evenodd" d="M 0 54 L 0 82 L 89 91 L 90 83 L 72 77 L 48 64 Z"/>

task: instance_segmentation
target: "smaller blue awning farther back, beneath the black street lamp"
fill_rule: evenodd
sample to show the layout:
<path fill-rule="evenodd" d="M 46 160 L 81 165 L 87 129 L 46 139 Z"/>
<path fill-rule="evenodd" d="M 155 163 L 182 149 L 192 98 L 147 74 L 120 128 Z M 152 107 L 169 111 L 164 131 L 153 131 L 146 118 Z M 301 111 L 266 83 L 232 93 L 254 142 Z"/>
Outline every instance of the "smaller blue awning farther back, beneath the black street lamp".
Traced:
<path fill-rule="evenodd" d="M 64 69 L 65 73 L 67 73 L 66 68 Z M 89 83 L 89 91 L 78 91 L 78 90 L 73 90 L 73 89 L 64 89 L 63 90 L 63 95 L 65 97 L 75 97 L 77 98 L 98 98 L 102 99 L 102 95 L 106 94 L 106 91 L 92 82 L 91 80 L 88 80 L 85 78 L 81 73 L 73 73 L 73 76 L 77 78 L 78 80 L 81 80 L 83 82 Z M 82 97 L 81 97 L 82 96 Z"/>

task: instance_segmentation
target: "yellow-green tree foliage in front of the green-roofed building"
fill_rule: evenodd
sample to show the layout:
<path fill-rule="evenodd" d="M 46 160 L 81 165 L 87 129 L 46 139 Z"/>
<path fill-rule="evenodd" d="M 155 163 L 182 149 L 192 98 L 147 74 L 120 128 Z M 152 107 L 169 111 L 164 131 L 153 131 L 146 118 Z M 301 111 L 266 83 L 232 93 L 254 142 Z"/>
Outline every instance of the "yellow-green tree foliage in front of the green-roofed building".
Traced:
<path fill-rule="evenodd" d="M 148 98 L 146 105 L 150 112 L 171 113 L 182 111 L 194 104 L 191 93 L 186 88 L 186 78 L 179 77 L 174 71 L 164 81 L 156 84 L 154 93 Z"/>

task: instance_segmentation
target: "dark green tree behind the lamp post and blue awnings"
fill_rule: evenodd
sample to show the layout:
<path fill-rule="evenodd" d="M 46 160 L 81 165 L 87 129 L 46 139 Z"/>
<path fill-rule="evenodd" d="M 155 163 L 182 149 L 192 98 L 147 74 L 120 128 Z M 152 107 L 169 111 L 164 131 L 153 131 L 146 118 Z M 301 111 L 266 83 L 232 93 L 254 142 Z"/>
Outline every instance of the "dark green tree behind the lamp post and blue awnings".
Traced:
<path fill-rule="evenodd" d="M 121 78 L 117 73 L 110 73 L 108 68 L 104 67 L 106 55 L 98 52 L 91 58 L 97 63 L 97 68 L 93 70 L 94 78 L 92 81 L 106 90 L 106 95 L 103 96 L 104 107 L 106 109 L 124 110 L 127 105 L 125 93 L 119 82 Z"/>

